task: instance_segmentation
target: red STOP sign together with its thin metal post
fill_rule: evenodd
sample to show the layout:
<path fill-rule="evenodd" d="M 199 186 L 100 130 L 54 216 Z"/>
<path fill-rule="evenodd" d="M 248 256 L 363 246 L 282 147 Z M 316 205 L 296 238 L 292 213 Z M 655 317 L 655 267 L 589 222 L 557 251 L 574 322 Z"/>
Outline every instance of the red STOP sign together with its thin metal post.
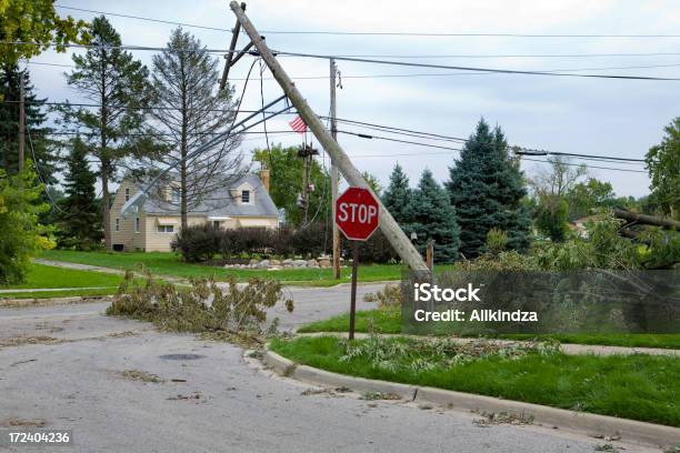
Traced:
<path fill-rule="evenodd" d="M 380 205 L 370 190 L 349 188 L 336 201 L 336 224 L 352 242 L 352 290 L 349 339 L 354 339 L 359 241 L 368 241 L 380 224 Z"/>

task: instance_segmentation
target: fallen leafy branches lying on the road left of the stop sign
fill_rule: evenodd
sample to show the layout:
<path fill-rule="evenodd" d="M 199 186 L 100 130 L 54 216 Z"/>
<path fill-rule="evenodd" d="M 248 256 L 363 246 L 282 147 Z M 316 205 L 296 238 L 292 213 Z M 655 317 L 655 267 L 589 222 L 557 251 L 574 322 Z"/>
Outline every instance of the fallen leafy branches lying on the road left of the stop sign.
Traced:
<path fill-rule="evenodd" d="M 192 279 L 191 286 L 179 286 L 150 274 L 138 285 L 128 272 L 107 314 L 150 321 L 164 331 L 253 344 L 277 332 L 278 319 L 268 324 L 267 309 L 279 302 L 292 312 L 292 300 L 284 299 L 276 280 L 253 278 L 239 285 L 232 279 L 224 291 L 211 279 Z"/>

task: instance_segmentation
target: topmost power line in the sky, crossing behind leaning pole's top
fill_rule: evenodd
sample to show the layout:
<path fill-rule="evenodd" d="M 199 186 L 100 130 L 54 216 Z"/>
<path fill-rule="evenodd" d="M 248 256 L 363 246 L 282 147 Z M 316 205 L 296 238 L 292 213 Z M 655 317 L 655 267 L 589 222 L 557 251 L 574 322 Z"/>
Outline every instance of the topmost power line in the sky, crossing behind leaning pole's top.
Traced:
<path fill-rule="evenodd" d="M 56 4 L 54 7 L 90 12 L 93 14 L 106 14 L 126 19 L 136 19 L 147 22 L 167 23 L 171 26 L 191 27 L 203 30 L 228 31 L 231 29 L 220 27 L 201 26 L 197 23 L 177 22 L 162 19 L 152 19 L 141 16 L 121 14 L 116 12 L 97 11 L 84 8 Z M 331 36 L 399 36 L 399 37 L 489 37 L 489 38 L 680 38 L 680 34 L 549 34 L 549 33 L 452 33 L 452 32 L 419 32 L 419 31 L 333 31 L 333 30 L 261 30 L 268 34 L 331 34 Z"/>

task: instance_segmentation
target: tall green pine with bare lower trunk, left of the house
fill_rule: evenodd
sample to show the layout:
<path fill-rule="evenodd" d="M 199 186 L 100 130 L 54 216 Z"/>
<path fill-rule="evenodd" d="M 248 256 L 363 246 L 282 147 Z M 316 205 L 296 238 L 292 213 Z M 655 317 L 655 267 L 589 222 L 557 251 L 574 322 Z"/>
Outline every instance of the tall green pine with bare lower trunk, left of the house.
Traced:
<path fill-rule="evenodd" d="M 144 110 L 140 107 L 147 104 L 148 70 L 130 52 L 120 49 L 120 34 L 106 17 L 94 18 L 89 32 L 92 47 L 73 56 L 76 69 L 67 74 L 67 82 L 99 107 L 67 105 L 61 111 L 67 129 L 80 128 L 88 132 L 82 141 L 99 163 L 104 242 L 110 249 L 109 182 L 117 179 L 119 165 L 127 155 L 139 153 L 133 132 L 143 127 Z"/>

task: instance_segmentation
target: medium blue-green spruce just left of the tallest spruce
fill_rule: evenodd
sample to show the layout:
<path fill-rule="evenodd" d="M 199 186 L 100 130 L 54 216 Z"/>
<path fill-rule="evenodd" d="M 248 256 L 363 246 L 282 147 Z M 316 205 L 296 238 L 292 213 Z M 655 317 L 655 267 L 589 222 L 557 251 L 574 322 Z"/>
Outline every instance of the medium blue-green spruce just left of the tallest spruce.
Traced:
<path fill-rule="evenodd" d="M 427 241 L 432 239 L 436 262 L 450 263 L 458 258 L 460 228 L 456 221 L 456 210 L 447 191 L 434 181 L 430 170 L 422 172 L 404 215 L 409 223 L 403 225 L 403 230 L 407 234 L 418 234 L 416 248 L 420 253 L 426 254 Z"/>

